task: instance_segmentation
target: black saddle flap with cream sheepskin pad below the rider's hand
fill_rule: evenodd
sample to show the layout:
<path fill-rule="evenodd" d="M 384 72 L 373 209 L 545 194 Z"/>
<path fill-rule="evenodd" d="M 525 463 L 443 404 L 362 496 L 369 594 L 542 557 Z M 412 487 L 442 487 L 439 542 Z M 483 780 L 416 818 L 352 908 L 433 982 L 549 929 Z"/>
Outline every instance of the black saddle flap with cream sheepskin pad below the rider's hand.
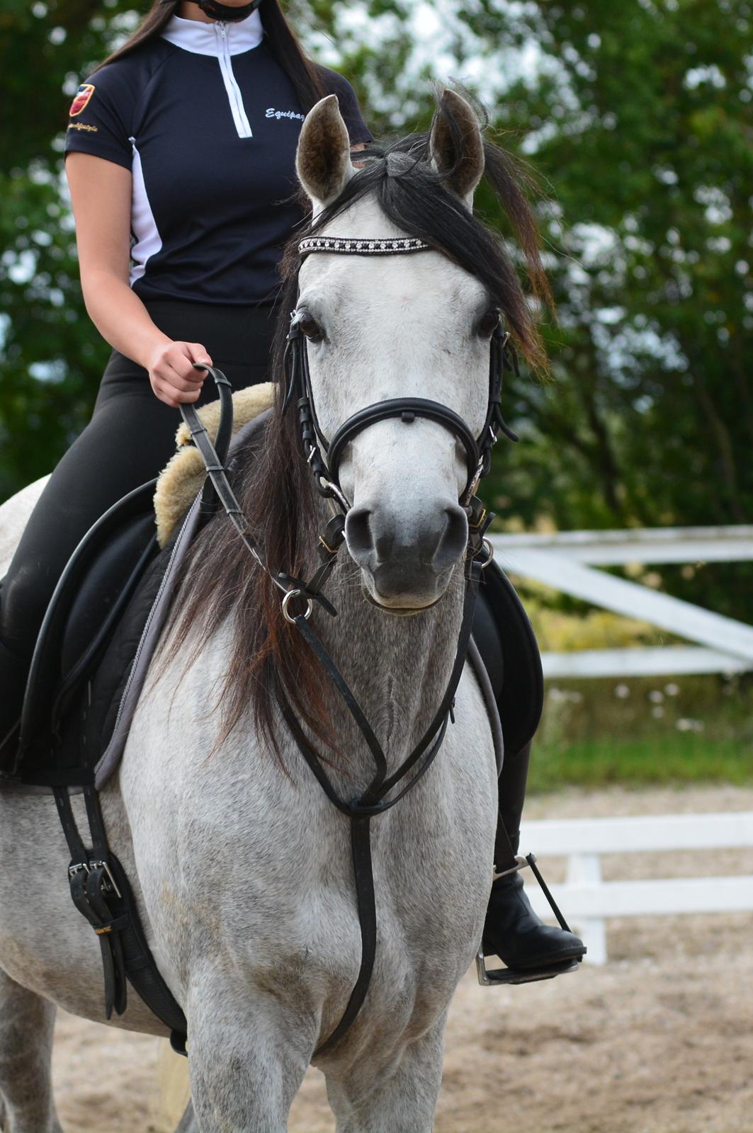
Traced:
<path fill-rule="evenodd" d="M 271 383 L 238 390 L 234 438 L 260 443 L 270 416 Z M 214 440 L 219 401 L 202 406 Z M 256 426 L 259 425 L 259 428 Z M 162 474 L 120 500 L 88 531 L 68 562 L 36 644 L 22 726 L 22 784 L 34 789 L 91 780 L 116 722 L 124 738 L 137 700 L 134 658 L 151 651 L 200 527 L 205 471 L 185 424 Z M 159 599 L 159 600 L 158 600 Z M 141 672 L 141 671 L 139 671 Z M 128 710 L 126 712 L 126 700 Z M 105 742 L 109 750 L 111 743 Z M 108 764 L 112 766 L 112 764 Z"/>

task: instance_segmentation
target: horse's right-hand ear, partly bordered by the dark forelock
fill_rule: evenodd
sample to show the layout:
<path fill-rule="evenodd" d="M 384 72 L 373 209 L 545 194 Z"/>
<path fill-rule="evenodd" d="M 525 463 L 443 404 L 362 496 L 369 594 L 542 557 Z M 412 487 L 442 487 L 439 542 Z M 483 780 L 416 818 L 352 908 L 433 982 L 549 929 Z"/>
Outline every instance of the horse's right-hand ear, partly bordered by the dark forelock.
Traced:
<path fill-rule="evenodd" d="M 449 87 L 442 91 L 434 111 L 429 152 L 438 173 L 457 165 L 445 184 L 472 210 L 473 194 L 484 171 L 484 144 L 473 108 Z"/>

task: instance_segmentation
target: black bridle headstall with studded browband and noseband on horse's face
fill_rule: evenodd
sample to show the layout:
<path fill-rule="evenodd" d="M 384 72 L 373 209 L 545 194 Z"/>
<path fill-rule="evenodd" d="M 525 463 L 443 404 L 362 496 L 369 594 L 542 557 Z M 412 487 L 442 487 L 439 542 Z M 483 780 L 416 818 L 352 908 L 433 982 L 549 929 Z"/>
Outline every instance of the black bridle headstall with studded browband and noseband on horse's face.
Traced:
<path fill-rule="evenodd" d="M 307 237 L 298 245 L 302 259 L 315 252 L 336 255 L 394 256 L 413 252 L 428 252 L 431 248 L 431 245 L 424 244 L 423 240 L 415 237 L 397 237 L 388 240 L 337 236 Z M 449 429 L 463 445 L 467 479 L 460 494 L 460 503 L 467 506 L 475 495 L 481 477 L 485 476 L 491 467 L 491 450 L 499 433 L 504 433 L 510 441 L 517 441 L 515 433 L 505 424 L 501 410 L 504 373 L 506 369 L 518 373 L 517 357 L 509 342 L 509 332 L 501 329 L 501 318 L 498 321 L 490 341 L 487 417 L 479 436 L 473 435 L 459 414 L 439 401 L 431 401 L 428 398 L 390 398 L 386 401 L 375 401 L 353 414 L 340 425 L 330 441 L 322 432 L 314 407 L 306 337 L 301 329 L 303 317 L 303 314 L 297 309 L 290 314 L 290 329 L 284 355 L 286 392 L 282 409 L 284 411 L 287 409 L 295 395 L 304 454 L 321 495 L 336 500 L 340 508 L 347 512 L 350 504 L 342 492 L 339 479 L 340 463 L 346 446 L 359 433 L 378 421 L 399 418 L 406 425 L 411 425 L 416 418 L 422 417 L 425 420 L 437 421 Z M 327 462 L 324 462 L 324 455 Z"/>

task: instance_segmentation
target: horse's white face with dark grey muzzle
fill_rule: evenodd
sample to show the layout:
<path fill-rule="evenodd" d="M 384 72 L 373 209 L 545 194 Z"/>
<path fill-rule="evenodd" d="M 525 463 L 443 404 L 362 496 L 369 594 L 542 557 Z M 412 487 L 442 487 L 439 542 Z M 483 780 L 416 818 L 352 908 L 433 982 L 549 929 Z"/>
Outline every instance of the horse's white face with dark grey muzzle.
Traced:
<path fill-rule="evenodd" d="M 310 112 L 298 146 L 298 173 L 315 213 L 355 172 L 345 123 L 330 99 Z M 324 126 L 329 119 L 332 129 L 322 129 L 320 119 Z M 320 127 L 318 159 L 328 144 L 341 159 L 327 197 L 307 164 L 312 121 Z M 475 119 L 473 125 L 477 130 Z M 405 235 L 371 198 L 323 231 Z M 299 288 L 296 309 L 305 313 L 312 391 L 327 436 L 358 409 L 399 397 L 441 402 L 480 434 L 489 394 L 489 338 L 480 324 L 490 303 L 477 280 L 434 250 L 373 257 L 315 253 L 302 265 Z M 458 500 L 467 478 L 463 446 L 434 421 L 379 421 L 347 445 L 340 465 L 340 483 L 353 503 L 346 542 L 373 600 L 415 610 L 441 597 L 466 546 L 467 519 Z"/>

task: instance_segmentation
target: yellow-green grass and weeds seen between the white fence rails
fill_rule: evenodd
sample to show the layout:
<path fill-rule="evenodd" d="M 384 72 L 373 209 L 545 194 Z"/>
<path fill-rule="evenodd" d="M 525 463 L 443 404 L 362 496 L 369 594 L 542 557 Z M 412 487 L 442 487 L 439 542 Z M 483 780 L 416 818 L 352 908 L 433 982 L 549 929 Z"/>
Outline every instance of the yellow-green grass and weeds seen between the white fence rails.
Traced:
<path fill-rule="evenodd" d="M 514 579 L 542 651 L 679 639 Z M 753 673 L 545 682 L 528 791 L 610 784 L 753 786 Z"/>

